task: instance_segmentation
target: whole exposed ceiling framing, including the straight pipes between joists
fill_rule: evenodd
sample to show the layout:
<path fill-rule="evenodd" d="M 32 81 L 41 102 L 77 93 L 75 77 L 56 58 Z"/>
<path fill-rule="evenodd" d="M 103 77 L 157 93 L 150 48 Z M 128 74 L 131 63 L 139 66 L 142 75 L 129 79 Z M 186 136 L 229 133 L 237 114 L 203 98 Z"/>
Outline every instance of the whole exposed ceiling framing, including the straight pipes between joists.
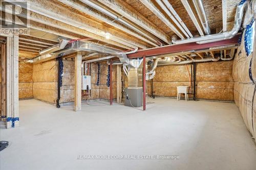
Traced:
<path fill-rule="evenodd" d="M 232 28 L 239 2 L 203 0 L 212 33 L 220 31 L 221 26 L 223 31 Z M 26 7 L 23 8 L 18 15 L 21 21 L 26 18 Z M 11 13 L 12 9 L 7 8 L 6 12 Z M 20 35 L 22 59 L 34 58 L 40 50 L 58 43 L 58 38 L 86 39 L 126 51 L 170 44 L 173 34 L 182 39 L 204 35 L 192 0 L 31 0 L 27 12 L 31 33 Z M 10 14 L 1 19 L 11 22 L 11 17 Z"/>

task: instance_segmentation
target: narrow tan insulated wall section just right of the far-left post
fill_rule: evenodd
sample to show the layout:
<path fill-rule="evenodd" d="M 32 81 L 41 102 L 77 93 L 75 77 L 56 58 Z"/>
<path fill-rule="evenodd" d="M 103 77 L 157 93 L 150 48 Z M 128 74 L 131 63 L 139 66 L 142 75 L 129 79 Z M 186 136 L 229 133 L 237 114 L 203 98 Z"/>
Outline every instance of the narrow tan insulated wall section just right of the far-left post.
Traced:
<path fill-rule="evenodd" d="M 18 65 L 18 89 L 19 99 L 33 98 L 33 64 L 19 62 Z"/>

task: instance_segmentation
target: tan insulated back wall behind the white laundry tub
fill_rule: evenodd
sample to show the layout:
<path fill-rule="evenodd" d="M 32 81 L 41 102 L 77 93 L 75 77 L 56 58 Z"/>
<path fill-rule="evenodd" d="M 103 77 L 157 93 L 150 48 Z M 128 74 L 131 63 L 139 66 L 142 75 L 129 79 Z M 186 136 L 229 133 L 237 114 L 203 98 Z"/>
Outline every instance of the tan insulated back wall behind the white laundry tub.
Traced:
<path fill-rule="evenodd" d="M 233 101 L 232 62 L 196 64 L 196 97 L 198 99 Z M 156 96 L 177 97 L 177 86 L 190 86 L 191 65 L 167 65 L 156 68 L 153 91 Z M 151 81 L 147 92 L 151 95 Z M 193 95 L 190 94 L 189 98 Z"/>

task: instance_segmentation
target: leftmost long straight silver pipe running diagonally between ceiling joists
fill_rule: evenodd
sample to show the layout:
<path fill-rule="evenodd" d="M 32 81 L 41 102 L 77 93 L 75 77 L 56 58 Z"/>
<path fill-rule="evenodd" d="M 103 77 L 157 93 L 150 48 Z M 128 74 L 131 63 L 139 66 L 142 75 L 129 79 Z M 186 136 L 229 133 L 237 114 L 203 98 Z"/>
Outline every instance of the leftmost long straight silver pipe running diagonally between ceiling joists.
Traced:
<path fill-rule="evenodd" d="M 127 21 L 125 21 L 124 19 L 122 19 L 121 17 L 117 16 L 116 14 L 113 14 L 112 12 L 98 6 L 97 4 L 95 4 L 93 1 L 89 1 L 89 0 L 80 0 L 81 2 L 83 2 L 84 4 L 87 4 L 91 7 L 93 7 L 94 9 L 114 18 L 115 20 L 118 20 L 119 22 L 123 23 L 125 26 L 135 30 L 136 32 L 142 34 L 143 36 L 145 36 L 146 38 L 152 40 L 154 43 L 159 43 L 158 40 L 156 40 L 155 38 L 153 38 L 152 36 L 146 34 L 145 32 L 143 32 L 142 30 L 134 27 L 133 25 L 131 25 L 130 23 L 128 23 Z M 153 44 L 154 46 L 158 46 L 157 44 Z"/>

